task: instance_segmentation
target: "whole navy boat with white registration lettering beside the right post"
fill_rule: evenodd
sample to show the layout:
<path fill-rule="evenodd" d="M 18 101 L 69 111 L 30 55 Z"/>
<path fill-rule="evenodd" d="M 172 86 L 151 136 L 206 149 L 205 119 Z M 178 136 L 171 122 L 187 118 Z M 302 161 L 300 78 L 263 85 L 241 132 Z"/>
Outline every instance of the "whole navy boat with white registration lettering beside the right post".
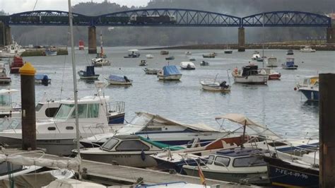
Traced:
<path fill-rule="evenodd" d="M 319 151 L 291 156 L 261 158 L 267 163 L 268 177 L 274 187 L 319 187 Z"/>

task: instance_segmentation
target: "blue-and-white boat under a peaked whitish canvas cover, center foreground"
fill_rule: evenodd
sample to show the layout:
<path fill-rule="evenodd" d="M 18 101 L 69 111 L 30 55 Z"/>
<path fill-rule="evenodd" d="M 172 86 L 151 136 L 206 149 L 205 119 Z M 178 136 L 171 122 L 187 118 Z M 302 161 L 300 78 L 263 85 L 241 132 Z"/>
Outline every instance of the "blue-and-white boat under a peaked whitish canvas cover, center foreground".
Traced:
<path fill-rule="evenodd" d="M 134 134 L 172 146 L 192 145 L 193 143 L 205 146 L 209 141 L 226 136 L 228 133 L 230 131 L 214 129 L 206 124 L 185 124 L 158 114 L 136 112 L 135 117 L 118 129 L 116 134 L 98 134 L 82 139 L 81 144 L 86 148 L 101 146 L 114 135 Z"/>

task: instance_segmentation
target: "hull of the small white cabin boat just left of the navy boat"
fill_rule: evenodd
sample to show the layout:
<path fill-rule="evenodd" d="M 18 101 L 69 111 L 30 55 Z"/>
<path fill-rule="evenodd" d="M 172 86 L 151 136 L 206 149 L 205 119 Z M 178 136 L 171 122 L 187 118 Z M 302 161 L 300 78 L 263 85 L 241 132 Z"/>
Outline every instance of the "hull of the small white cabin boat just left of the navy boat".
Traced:
<path fill-rule="evenodd" d="M 199 177 L 198 174 L 198 167 L 197 166 L 187 166 L 183 167 L 183 170 L 187 173 L 187 175 Z M 265 172 L 217 172 L 211 171 L 204 168 L 201 168 L 204 176 L 208 179 L 213 180 L 221 180 L 226 182 L 241 182 L 241 180 L 248 180 L 247 183 L 249 184 L 259 184 L 259 185 L 266 185 L 270 184 L 269 179 L 267 178 L 267 173 Z"/>

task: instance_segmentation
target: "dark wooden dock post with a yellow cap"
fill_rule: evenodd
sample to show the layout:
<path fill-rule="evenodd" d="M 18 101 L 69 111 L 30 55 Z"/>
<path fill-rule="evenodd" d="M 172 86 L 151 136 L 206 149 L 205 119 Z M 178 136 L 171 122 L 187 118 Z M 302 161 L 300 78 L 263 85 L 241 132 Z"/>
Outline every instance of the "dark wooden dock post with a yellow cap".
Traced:
<path fill-rule="evenodd" d="M 36 150 L 35 73 L 29 62 L 20 68 L 23 150 Z"/>

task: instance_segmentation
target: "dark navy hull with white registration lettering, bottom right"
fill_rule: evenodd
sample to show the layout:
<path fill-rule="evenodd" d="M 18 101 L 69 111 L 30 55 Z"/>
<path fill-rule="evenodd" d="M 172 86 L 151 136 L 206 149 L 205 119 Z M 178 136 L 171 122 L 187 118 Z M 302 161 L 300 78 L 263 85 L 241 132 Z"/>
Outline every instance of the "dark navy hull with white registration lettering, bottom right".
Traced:
<path fill-rule="evenodd" d="M 319 170 L 291 165 L 278 158 L 263 157 L 268 163 L 271 184 L 280 187 L 319 187 Z"/>

